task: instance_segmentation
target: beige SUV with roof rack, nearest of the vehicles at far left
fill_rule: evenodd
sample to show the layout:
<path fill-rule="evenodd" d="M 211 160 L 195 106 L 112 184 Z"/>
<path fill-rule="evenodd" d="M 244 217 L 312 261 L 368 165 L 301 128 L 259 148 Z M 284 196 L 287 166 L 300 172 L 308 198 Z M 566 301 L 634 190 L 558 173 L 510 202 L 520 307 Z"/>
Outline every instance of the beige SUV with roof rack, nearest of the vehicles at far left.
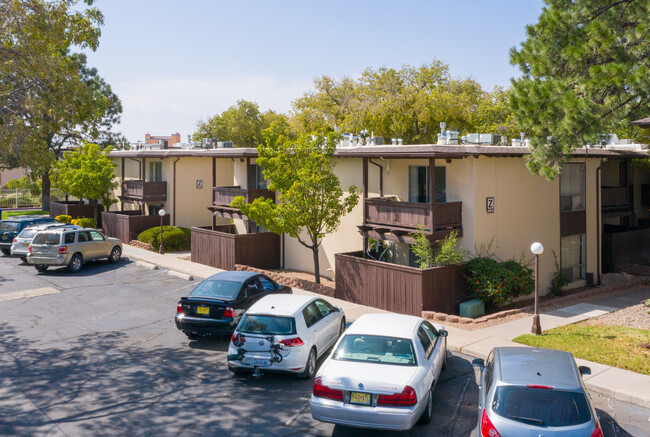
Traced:
<path fill-rule="evenodd" d="M 49 266 L 67 266 L 78 272 L 86 261 L 108 258 L 116 263 L 122 256 L 122 242 L 104 236 L 96 229 L 47 229 L 34 236 L 29 245 L 27 262 L 44 272 Z"/>

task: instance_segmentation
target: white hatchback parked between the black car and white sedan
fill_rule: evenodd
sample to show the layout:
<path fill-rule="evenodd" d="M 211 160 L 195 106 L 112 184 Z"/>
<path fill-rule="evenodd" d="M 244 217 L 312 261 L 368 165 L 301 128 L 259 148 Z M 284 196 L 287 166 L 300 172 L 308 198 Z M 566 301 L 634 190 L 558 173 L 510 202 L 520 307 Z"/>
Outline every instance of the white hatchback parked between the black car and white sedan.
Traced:
<path fill-rule="evenodd" d="M 263 297 L 242 317 L 228 348 L 233 373 L 290 372 L 312 378 L 316 360 L 345 331 L 343 310 L 301 294 Z"/>

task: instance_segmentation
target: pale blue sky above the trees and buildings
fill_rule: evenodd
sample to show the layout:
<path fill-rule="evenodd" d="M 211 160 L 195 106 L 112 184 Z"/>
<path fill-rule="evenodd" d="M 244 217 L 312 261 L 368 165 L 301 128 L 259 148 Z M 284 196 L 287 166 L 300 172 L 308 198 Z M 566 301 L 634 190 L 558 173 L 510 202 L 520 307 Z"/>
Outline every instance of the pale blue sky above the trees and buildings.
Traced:
<path fill-rule="evenodd" d="M 420 66 L 434 59 L 484 88 L 509 86 L 509 51 L 542 0 L 98 0 L 99 48 L 88 53 L 122 100 L 115 127 L 181 139 L 197 123 L 256 102 L 287 113 L 322 75 Z"/>

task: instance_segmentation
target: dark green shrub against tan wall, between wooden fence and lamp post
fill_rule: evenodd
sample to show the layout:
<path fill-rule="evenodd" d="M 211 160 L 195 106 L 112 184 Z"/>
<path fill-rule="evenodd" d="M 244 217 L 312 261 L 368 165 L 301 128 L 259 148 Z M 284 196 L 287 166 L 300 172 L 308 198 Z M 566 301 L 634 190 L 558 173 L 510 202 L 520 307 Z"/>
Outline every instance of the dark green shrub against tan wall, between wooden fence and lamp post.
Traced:
<path fill-rule="evenodd" d="M 533 271 L 515 260 L 498 262 L 488 257 L 474 258 L 463 269 L 463 275 L 470 297 L 491 308 L 530 294 L 535 288 Z"/>

